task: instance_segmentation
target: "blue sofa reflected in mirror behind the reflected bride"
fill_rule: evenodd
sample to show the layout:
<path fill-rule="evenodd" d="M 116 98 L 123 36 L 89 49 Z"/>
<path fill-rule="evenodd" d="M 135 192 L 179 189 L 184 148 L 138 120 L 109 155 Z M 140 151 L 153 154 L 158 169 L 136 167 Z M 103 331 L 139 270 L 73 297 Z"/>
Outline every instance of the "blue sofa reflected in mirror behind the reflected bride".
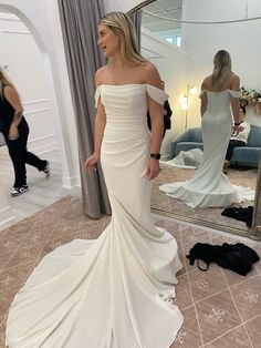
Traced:
<path fill-rule="evenodd" d="M 203 150 L 201 129 L 199 127 L 185 131 L 171 143 L 171 158 L 177 156 L 180 151 L 191 149 Z M 261 127 L 251 124 L 247 145 L 234 147 L 230 162 L 231 164 L 258 167 L 260 149 Z"/>

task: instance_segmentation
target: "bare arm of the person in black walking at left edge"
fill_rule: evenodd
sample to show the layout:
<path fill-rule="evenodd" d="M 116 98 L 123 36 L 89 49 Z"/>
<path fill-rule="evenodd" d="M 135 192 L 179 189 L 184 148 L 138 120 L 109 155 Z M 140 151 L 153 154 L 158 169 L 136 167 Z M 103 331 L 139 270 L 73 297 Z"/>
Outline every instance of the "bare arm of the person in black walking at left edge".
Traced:
<path fill-rule="evenodd" d="M 22 120 L 23 108 L 22 108 L 19 94 L 13 86 L 11 85 L 4 86 L 3 95 L 6 100 L 14 109 L 13 120 L 9 129 L 9 139 L 15 140 L 19 136 L 18 125 Z"/>

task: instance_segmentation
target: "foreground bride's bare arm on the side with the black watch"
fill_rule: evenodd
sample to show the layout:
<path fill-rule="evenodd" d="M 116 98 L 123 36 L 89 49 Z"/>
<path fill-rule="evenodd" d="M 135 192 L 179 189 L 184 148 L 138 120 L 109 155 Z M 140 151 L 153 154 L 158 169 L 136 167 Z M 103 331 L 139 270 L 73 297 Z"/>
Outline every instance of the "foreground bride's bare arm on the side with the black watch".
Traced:
<path fill-rule="evenodd" d="M 157 69 L 149 64 L 146 68 L 146 83 L 154 85 L 161 90 L 161 80 Z M 150 153 L 159 153 L 163 141 L 164 132 L 164 106 L 155 102 L 148 96 L 148 110 L 152 121 L 152 135 L 150 135 Z M 149 180 L 156 177 L 159 173 L 159 161 L 149 157 L 147 166 L 147 176 Z"/>

